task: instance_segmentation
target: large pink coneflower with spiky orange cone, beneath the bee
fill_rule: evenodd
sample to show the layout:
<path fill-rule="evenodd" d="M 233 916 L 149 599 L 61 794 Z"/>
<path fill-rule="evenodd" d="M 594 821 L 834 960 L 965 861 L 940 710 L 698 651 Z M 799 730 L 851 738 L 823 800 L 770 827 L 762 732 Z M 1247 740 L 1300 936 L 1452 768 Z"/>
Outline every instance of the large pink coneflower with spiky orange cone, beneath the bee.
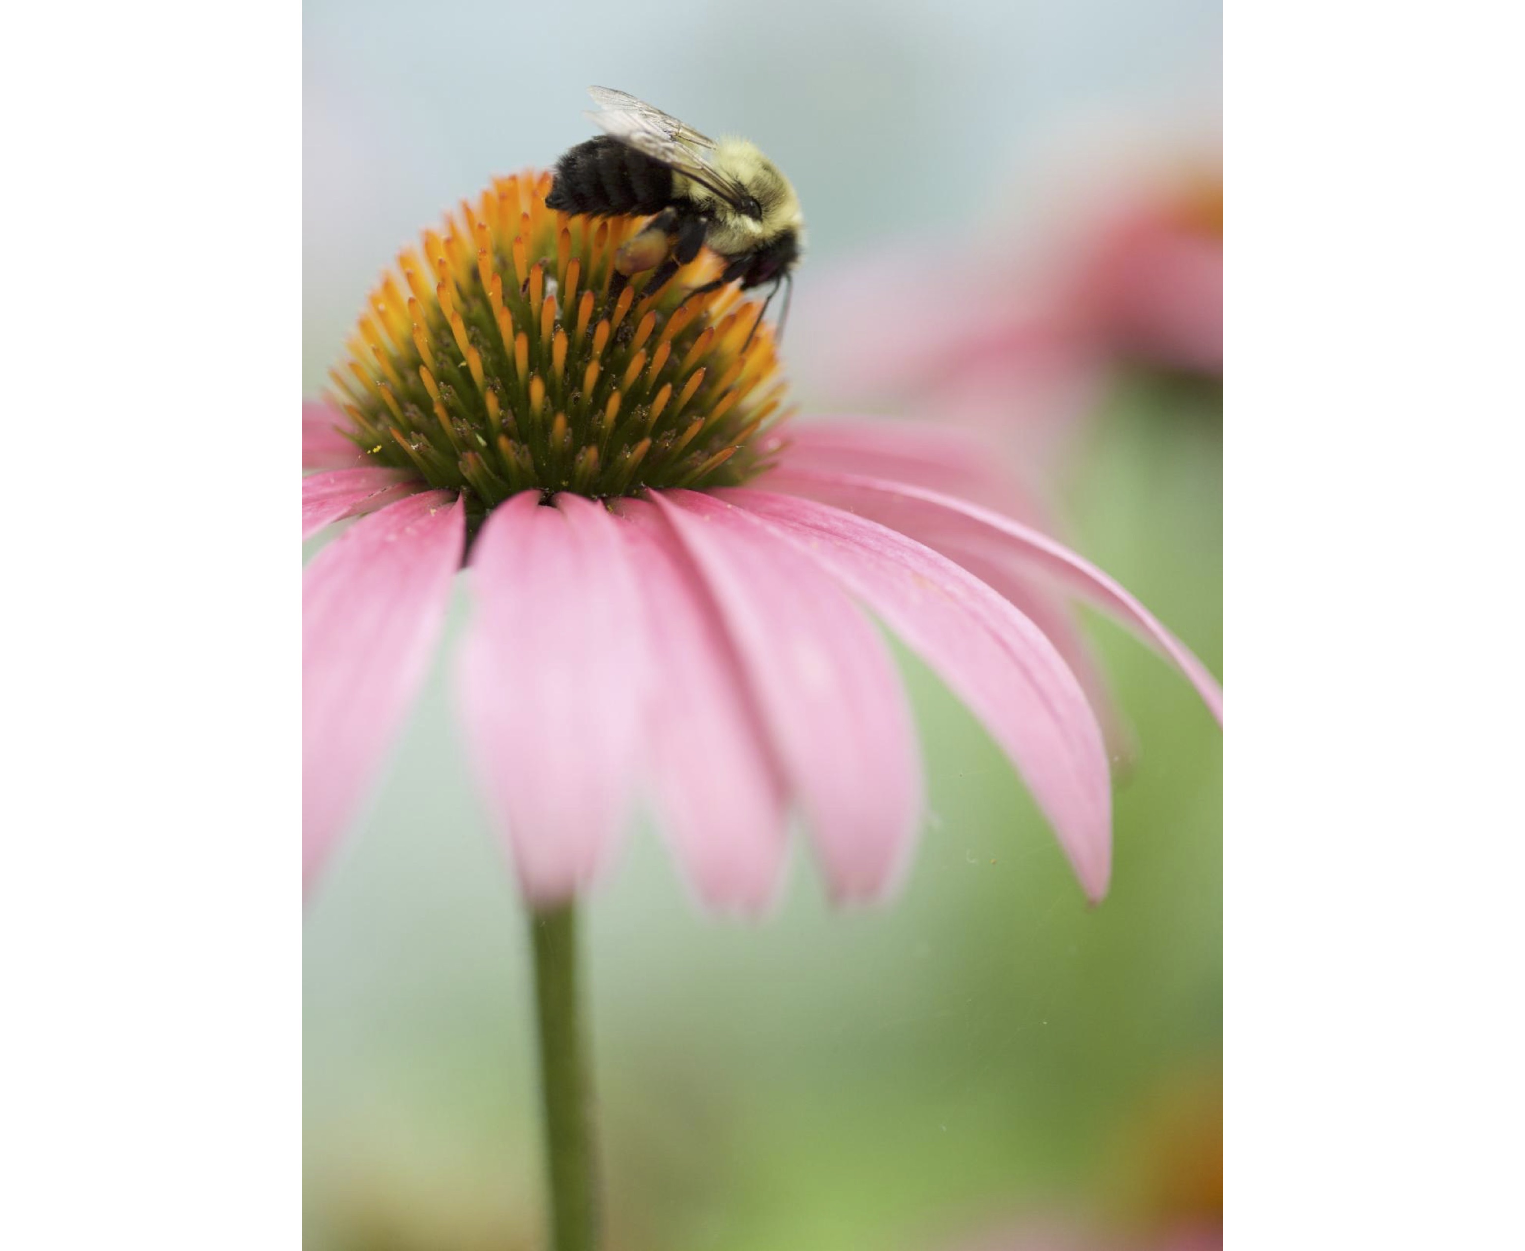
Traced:
<path fill-rule="evenodd" d="M 685 299 L 708 258 L 660 291 L 624 284 L 612 261 L 636 223 L 558 215 L 549 185 L 499 180 L 403 252 L 331 375 L 337 406 L 303 410 L 320 470 L 305 534 L 358 517 L 305 580 L 308 879 L 465 571 L 461 716 L 540 915 L 569 915 L 642 802 L 712 908 L 769 905 L 795 813 L 834 899 L 884 896 L 923 781 L 875 619 L 984 722 L 1100 899 L 1107 751 L 1066 661 L 1068 597 L 1141 632 L 1217 714 L 1212 676 L 1106 574 L 985 507 L 979 464 L 868 423 L 787 426 L 756 305 L 734 288 Z M 584 1118 L 554 1089 L 576 1066 L 570 921 L 537 943 L 552 1158 L 578 1158 Z M 576 1176 L 557 1179 L 558 1228 L 583 1222 Z"/>

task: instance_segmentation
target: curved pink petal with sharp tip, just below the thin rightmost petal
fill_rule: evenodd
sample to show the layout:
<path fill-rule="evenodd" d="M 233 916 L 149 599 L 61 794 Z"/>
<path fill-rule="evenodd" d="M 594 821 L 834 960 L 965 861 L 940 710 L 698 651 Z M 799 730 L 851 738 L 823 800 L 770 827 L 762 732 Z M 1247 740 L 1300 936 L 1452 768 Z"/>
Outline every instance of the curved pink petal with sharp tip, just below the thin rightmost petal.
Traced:
<path fill-rule="evenodd" d="M 1090 899 L 1112 871 L 1112 790 L 1096 719 L 1054 645 L 936 552 L 840 508 L 772 491 L 717 493 L 824 564 L 936 670 L 1026 780 Z"/>

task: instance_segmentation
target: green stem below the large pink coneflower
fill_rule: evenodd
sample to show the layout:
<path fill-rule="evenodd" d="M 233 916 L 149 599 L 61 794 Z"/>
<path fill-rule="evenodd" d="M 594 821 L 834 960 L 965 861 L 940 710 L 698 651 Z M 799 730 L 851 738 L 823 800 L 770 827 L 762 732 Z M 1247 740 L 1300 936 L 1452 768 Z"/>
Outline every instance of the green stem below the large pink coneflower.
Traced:
<path fill-rule="evenodd" d="M 598 1184 L 593 1092 L 578 993 L 576 912 L 567 903 L 531 917 L 540 1015 L 540 1088 L 551 1176 L 551 1249 L 595 1251 Z"/>

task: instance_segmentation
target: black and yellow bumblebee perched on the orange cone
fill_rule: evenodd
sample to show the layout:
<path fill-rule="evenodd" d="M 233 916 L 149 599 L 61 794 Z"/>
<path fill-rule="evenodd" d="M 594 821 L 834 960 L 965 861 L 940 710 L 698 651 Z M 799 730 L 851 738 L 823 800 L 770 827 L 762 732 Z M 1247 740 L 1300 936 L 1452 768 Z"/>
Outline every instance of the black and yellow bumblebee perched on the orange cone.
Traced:
<path fill-rule="evenodd" d="M 793 284 L 805 233 L 799 197 L 756 143 L 709 139 L 625 92 L 587 90 L 599 105 L 587 116 L 605 133 L 557 162 L 547 206 L 592 217 L 654 214 L 615 258 L 627 278 L 656 270 L 650 291 L 706 244 L 726 267 L 697 291 L 772 282 L 772 302 L 781 282 Z"/>

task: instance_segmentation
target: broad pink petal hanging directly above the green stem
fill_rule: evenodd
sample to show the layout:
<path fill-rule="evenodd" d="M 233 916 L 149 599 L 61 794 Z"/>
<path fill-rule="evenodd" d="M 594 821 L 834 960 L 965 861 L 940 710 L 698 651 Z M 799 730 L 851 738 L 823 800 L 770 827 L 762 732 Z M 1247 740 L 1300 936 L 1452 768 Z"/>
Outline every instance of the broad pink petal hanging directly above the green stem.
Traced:
<path fill-rule="evenodd" d="M 651 661 L 630 546 L 601 503 L 526 491 L 471 549 L 458 697 L 477 784 L 526 897 L 561 903 L 631 815 Z"/>

